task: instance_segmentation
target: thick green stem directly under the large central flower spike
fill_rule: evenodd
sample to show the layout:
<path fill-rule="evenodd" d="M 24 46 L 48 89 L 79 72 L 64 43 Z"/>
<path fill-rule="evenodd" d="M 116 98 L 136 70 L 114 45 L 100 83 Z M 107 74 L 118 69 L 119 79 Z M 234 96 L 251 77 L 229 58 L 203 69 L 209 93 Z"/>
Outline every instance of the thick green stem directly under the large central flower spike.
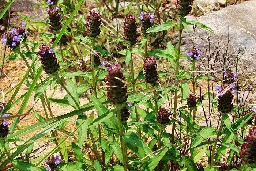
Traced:
<path fill-rule="evenodd" d="M 123 134 L 124 134 L 124 130 L 123 130 L 123 124 L 121 121 L 121 108 L 119 106 L 116 106 L 116 110 L 117 110 L 117 122 L 118 122 L 118 128 L 119 128 L 119 137 L 120 137 L 120 141 L 121 141 L 121 149 L 122 149 L 122 155 L 123 155 L 123 164 L 124 164 L 124 170 L 128 171 L 128 156 L 127 156 L 127 147 L 126 144 L 123 140 Z"/>

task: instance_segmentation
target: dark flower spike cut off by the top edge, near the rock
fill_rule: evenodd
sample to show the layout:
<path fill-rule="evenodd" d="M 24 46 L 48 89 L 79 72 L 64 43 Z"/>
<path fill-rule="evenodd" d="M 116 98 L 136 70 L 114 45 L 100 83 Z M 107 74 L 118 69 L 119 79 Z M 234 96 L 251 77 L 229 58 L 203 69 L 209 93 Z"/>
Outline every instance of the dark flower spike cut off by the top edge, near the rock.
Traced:
<path fill-rule="evenodd" d="M 178 14 L 179 17 L 185 17 L 188 15 L 188 13 L 191 11 L 193 0 L 177 0 L 177 3 L 175 3 L 175 12 Z"/>

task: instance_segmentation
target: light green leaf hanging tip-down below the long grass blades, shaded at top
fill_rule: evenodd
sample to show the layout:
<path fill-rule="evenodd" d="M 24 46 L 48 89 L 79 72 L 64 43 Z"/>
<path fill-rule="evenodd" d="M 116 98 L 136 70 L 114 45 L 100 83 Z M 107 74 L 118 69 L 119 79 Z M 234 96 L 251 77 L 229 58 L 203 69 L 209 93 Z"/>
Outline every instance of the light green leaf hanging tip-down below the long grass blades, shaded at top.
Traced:
<path fill-rule="evenodd" d="M 79 127 L 78 132 L 78 147 L 82 147 L 84 138 L 87 136 L 87 129 L 88 129 L 88 123 L 89 119 L 86 115 L 81 115 L 76 120 L 76 127 Z"/>

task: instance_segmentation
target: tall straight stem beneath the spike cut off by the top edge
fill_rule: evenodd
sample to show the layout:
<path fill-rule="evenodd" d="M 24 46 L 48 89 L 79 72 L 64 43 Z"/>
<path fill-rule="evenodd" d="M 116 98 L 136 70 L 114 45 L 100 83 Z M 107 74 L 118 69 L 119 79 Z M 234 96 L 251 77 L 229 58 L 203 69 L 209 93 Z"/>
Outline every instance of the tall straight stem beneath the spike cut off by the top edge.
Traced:
<path fill-rule="evenodd" d="M 179 41 L 178 41 L 178 54 L 176 57 L 176 67 L 175 67 L 175 75 L 176 80 L 178 79 L 179 74 L 179 68 L 180 68 L 180 46 L 181 46 L 181 34 L 182 34 L 183 25 L 180 19 L 180 30 L 179 30 Z M 175 84 L 175 86 L 178 87 L 178 84 Z M 173 118 L 176 118 L 176 110 L 177 110 L 177 101 L 178 101 L 178 90 L 175 90 L 174 92 L 174 109 L 173 109 Z M 171 143 L 174 141 L 174 133 L 175 133 L 175 122 L 172 125 L 172 137 L 171 137 Z M 171 171 L 173 171 L 173 160 L 171 161 Z"/>

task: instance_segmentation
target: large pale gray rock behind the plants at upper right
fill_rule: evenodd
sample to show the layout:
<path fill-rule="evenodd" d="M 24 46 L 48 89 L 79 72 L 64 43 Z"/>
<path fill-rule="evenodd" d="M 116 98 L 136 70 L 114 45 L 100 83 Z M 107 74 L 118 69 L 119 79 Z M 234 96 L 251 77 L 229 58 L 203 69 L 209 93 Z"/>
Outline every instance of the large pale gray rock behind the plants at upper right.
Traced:
<path fill-rule="evenodd" d="M 212 53 L 216 45 L 219 45 L 219 59 L 226 57 L 225 67 L 228 61 L 236 61 L 236 55 L 238 49 L 239 53 L 238 69 L 241 72 L 252 73 L 256 68 L 256 12 L 255 12 L 256 0 L 246 1 L 238 5 L 228 6 L 220 11 L 211 12 L 210 14 L 203 15 L 197 18 L 199 22 L 212 28 L 214 34 L 208 34 L 206 31 L 196 28 L 195 32 L 191 28 L 190 36 L 187 31 L 183 32 L 181 53 L 187 54 L 193 47 L 192 41 L 195 46 L 198 46 L 202 52 L 208 52 L 208 40 L 210 38 L 210 52 Z M 194 20 L 195 18 L 189 17 L 187 20 Z M 190 38 L 188 38 L 190 37 Z M 177 38 L 174 38 L 172 42 L 176 44 Z M 192 41 L 191 41 L 192 40 Z M 228 40 L 229 43 L 228 43 Z M 227 45 L 228 43 L 228 45 Z M 228 50 L 226 53 L 226 47 Z M 241 48 L 242 47 L 242 48 Z M 203 54 L 202 60 L 206 57 Z M 214 56 L 211 58 L 212 62 Z M 205 60 L 205 64 L 208 64 L 208 60 Z M 233 63 L 236 65 L 236 62 Z M 231 63 L 228 65 L 231 66 Z M 223 68 L 223 62 L 218 61 L 214 66 L 214 70 L 221 71 Z M 234 69 L 233 69 L 234 71 Z"/>

